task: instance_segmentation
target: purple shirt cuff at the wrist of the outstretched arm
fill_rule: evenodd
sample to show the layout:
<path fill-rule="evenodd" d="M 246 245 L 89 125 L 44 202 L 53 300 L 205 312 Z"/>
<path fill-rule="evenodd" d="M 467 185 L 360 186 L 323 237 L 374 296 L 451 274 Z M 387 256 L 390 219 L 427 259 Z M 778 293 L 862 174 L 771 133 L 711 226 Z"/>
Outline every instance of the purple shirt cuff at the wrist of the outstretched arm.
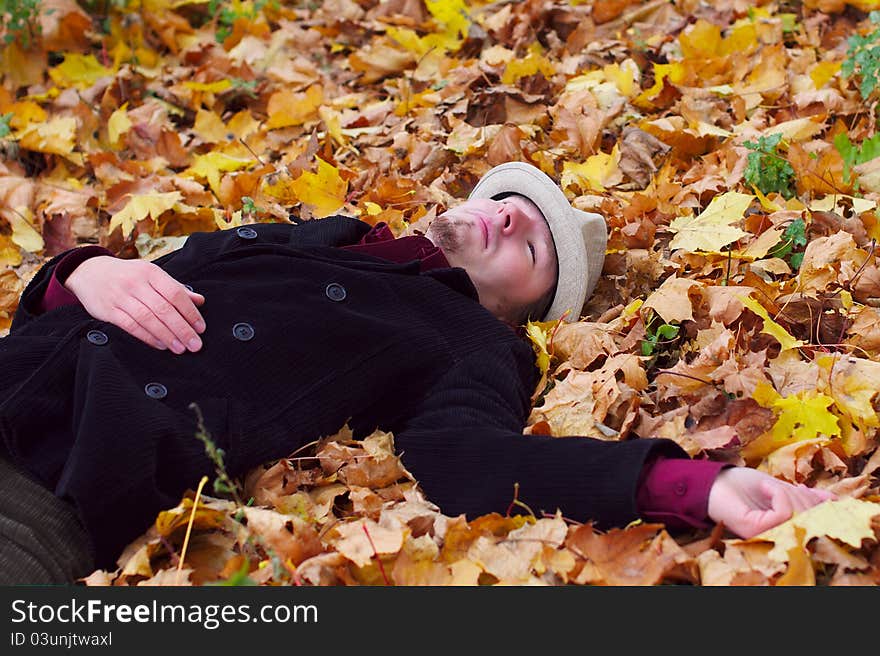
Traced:
<path fill-rule="evenodd" d="M 642 470 L 636 503 L 647 521 L 674 528 L 709 528 L 709 490 L 727 463 L 657 458 Z"/>

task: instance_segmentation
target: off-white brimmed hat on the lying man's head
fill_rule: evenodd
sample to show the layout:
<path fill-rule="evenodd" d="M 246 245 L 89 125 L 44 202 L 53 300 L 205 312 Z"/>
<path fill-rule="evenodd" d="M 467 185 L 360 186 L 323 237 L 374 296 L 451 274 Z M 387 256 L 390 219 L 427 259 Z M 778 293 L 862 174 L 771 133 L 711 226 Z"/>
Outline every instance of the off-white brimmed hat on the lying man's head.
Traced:
<path fill-rule="evenodd" d="M 608 243 L 605 217 L 572 207 L 559 185 L 524 162 L 508 162 L 490 169 L 469 198 L 497 198 L 510 193 L 525 196 L 538 206 L 556 246 L 556 294 L 542 320 L 559 319 L 571 310 L 566 321 L 577 321 L 602 273 Z"/>

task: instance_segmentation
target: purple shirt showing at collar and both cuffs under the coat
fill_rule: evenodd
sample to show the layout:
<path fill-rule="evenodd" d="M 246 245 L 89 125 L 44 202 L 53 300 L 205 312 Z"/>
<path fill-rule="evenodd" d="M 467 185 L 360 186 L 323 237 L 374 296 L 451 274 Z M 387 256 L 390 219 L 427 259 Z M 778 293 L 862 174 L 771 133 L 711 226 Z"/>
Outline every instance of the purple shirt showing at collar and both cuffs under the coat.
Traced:
<path fill-rule="evenodd" d="M 449 262 L 439 247 L 419 235 L 395 238 L 386 223 L 376 224 L 361 241 L 345 250 L 367 253 L 393 262 L 419 260 L 421 271 L 445 268 Z M 55 266 L 40 310 L 49 310 L 78 303 L 64 281 L 84 260 L 97 255 L 110 255 L 101 246 L 83 246 L 65 256 Z M 648 462 L 639 477 L 636 504 L 647 521 L 662 522 L 675 528 L 708 528 L 711 525 L 707 508 L 709 490 L 718 473 L 728 467 L 710 460 L 658 457 Z"/>

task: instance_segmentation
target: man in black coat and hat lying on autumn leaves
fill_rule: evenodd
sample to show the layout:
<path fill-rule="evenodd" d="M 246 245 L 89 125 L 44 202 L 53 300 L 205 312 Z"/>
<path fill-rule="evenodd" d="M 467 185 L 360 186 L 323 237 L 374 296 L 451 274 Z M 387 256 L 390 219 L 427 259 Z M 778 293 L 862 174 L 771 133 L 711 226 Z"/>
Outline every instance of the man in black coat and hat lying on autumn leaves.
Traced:
<path fill-rule="evenodd" d="M 155 263 L 53 258 L 0 340 L 0 571 L 112 568 L 212 471 L 191 403 L 233 476 L 346 421 L 391 431 L 453 515 L 504 512 L 518 483 L 533 509 L 605 526 L 641 513 L 748 536 L 828 498 L 666 440 L 522 435 L 537 372 L 510 325 L 576 319 L 605 242 L 601 216 L 510 163 L 424 237 L 331 217 L 195 233 Z"/>

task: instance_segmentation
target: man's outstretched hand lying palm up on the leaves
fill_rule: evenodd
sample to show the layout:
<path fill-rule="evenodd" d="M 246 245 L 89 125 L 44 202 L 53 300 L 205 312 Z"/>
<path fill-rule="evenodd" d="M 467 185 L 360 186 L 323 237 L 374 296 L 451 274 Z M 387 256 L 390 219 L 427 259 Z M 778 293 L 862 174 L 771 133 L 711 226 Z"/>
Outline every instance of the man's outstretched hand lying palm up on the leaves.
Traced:
<path fill-rule="evenodd" d="M 723 470 L 709 490 L 709 517 L 742 538 L 763 533 L 807 508 L 836 498 L 748 467 Z"/>

